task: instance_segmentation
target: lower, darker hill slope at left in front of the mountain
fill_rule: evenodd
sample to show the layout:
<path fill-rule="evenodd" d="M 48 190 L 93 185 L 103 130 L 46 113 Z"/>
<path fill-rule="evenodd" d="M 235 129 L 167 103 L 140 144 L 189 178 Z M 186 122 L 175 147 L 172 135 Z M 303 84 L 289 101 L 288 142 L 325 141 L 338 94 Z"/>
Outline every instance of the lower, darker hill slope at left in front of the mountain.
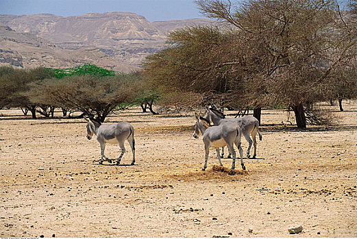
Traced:
<path fill-rule="evenodd" d="M 92 46 L 66 50 L 31 33 L 18 33 L 10 27 L 0 25 L 0 65 L 10 64 L 21 68 L 69 68 L 88 63 L 120 72 L 138 69 L 136 66 L 119 64 Z"/>

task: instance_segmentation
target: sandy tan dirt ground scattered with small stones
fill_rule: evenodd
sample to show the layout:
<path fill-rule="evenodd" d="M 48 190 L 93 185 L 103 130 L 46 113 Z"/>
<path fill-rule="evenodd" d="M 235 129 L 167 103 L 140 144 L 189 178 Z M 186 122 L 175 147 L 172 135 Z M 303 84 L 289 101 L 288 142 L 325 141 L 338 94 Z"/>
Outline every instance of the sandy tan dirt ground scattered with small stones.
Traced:
<path fill-rule="evenodd" d="M 244 158 L 244 173 L 237 163 L 236 175 L 212 169 L 213 149 L 201 171 L 193 113 L 108 117 L 135 128 L 136 165 L 126 143 L 116 166 L 93 162 L 99 143 L 86 139 L 84 119 L 3 109 L 0 236 L 357 237 L 357 102 L 344 107 L 333 107 L 336 125 L 308 130 L 290 126 L 286 112 L 262 111 L 258 158 Z M 119 156 L 119 146 L 106 155 Z M 297 225 L 302 233 L 288 234 Z"/>

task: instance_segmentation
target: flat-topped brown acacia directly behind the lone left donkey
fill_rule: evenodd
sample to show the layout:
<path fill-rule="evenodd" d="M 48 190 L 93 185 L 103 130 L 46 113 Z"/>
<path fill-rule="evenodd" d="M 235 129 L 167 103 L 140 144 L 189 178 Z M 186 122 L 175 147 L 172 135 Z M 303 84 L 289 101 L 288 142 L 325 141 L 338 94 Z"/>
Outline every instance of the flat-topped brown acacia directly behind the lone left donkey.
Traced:
<path fill-rule="evenodd" d="M 71 75 L 51 78 L 32 85 L 35 102 L 47 102 L 66 109 L 81 111 L 99 122 L 123 102 L 132 102 L 137 74 Z"/>

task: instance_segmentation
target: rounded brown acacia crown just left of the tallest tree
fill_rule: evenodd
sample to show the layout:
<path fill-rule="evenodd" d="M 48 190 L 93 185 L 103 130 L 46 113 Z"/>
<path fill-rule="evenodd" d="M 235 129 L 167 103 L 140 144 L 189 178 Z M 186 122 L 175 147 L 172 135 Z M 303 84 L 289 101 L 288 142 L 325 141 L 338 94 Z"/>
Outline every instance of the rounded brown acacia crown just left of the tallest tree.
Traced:
<path fill-rule="evenodd" d="M 169 33 L 171 47 L 150 55 L 145 76 L 164 92 L 163 104 L 192 107 L 230 104 L 229 92 L 238 87 L 227 62 L 232 32 L 218 27 L 188 27 Z"/>

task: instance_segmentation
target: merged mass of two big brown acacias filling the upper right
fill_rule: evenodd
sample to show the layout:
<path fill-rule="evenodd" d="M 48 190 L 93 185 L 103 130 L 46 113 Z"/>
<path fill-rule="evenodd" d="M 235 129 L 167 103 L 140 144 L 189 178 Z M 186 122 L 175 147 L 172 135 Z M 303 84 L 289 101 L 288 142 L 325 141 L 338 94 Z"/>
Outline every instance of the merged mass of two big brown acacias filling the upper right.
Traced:
<path fill-rule="evenodd" d="M 334 1 L 196 3 L 202 14 L 223 25 L 173 31 L 171 47 L 145 62 L 148 79 L 167 94 L 196 96 L 188 98 L 190 104 L 285 105 L 304 128 L 308 105 L 336 96 L 333 81 L 356 56 L 351 18 L 338 12 Z M 356 81 L 349 79 L 352 85 Z"/>

